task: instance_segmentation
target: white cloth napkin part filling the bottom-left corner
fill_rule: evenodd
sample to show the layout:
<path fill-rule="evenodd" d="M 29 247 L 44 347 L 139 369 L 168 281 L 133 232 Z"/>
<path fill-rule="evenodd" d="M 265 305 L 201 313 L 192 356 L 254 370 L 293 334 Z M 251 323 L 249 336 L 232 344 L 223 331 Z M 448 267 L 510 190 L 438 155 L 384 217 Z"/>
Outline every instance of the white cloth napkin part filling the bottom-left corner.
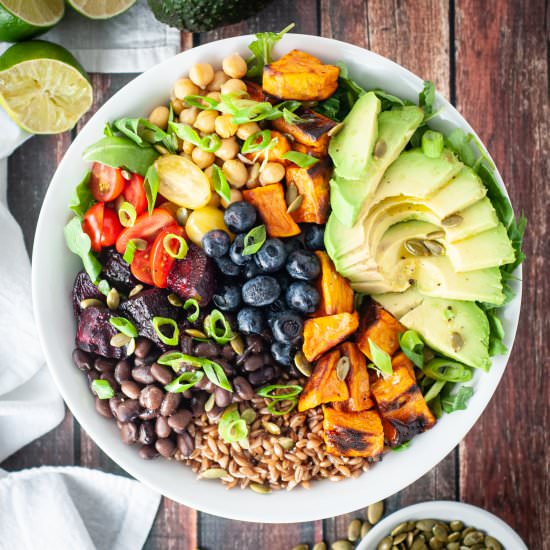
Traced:
<path fill-rule="evenodd" d="M 0 470 L 0 550 L 138 550 L 159 502 L 137 481 L 97 470 Z"/>

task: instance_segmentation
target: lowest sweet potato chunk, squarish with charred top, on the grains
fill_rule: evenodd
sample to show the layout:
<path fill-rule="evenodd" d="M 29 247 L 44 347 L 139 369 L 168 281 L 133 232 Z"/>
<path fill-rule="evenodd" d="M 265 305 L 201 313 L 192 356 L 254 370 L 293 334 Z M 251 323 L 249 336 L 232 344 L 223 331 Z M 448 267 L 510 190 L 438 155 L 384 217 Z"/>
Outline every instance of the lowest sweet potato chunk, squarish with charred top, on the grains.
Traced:
<path fill-rule="evenodd" d="M 336 456 L 375 459 L 384 451 L 384 431 L 378 412 L 343 412 L 324 407 L 327 452 Z"/>

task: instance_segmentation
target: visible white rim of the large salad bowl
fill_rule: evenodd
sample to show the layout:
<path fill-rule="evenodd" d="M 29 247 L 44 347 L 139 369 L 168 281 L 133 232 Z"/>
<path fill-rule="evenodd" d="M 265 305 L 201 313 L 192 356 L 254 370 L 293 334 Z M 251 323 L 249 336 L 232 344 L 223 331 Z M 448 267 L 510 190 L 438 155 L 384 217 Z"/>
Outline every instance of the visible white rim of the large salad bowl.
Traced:
<path fill-rule="evenodd" d="M 71 288 L 80 260 L 63 240 L 68 204 L 86 164 L 82 152 L 97 141 L 107 121 L 123 116 L 143 116 L 154 106 L 166 103 L 174 81 L 187 74 L 198 61 L 220 65 L 228 53 L 247 55 L 252 36 L 228 38 L 183 52 L 150 69 L 127 84 L 105 103 L 78 134 L 61 161 L 44 200 L 33 252 L 33 296 L 36 323 L 50 371 L 75 418 L 92 439 L 131 475 L 163 495 L 198 510 L 227 518 L 257 522 L 298 522 L 351 512 L 403 489 L 433 468 L 466 435 L 491 399 L 506 367 L 508 354 L 496 357 L 490 373 L 477 372 L 475 394 L 466 411 L 442 418 L 429 432 L 416 437 L 403 453 L 389 453 L 382 463 L 358 479 L 339 483 L 318 482 L 310 490 L 278 491 L 269 496 L 238 489 L 228 492 L 222 484 L 198 481 L 189 468 L 176 462 L 144 461 L 137 450 L 120 441 L 114 422 L 99 416 L 85 377 L 74 368 L 75 323 Z M 336 40 L 306 35 L 287 35 L 275 53 L 302 48 L 326 62 L 344 61 L 351 74 L 365 86 L 382 88 L 403 98 L 416 100 L 422 81 L 377 54 Z M 441 96 L 441 112 L 433 126 L 449 131 L 468 123 Z M 500 176 L 499 176 L 500 178 Z M 506 345 L 510 349 L 519 317 L 521 288 L 503 312 Z"/>

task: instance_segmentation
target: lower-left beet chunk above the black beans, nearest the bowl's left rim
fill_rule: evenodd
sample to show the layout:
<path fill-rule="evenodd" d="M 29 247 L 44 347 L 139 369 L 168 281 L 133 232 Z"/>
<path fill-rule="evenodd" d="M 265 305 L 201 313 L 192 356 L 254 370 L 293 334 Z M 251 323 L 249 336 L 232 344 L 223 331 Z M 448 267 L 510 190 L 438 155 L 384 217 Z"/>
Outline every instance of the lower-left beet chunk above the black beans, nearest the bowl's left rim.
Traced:
<path fill-rule="evenodd" d="M 103 357 L 122 359 L 126 356 L 126 348 L 111 346 L 111 338 L 118 330 L 111 325 L 109 319 L 115 315 L 107 308 L 87 307 L 82 310 L 76 329 L 76 346 L 88 353 L 96 353 Z"/>

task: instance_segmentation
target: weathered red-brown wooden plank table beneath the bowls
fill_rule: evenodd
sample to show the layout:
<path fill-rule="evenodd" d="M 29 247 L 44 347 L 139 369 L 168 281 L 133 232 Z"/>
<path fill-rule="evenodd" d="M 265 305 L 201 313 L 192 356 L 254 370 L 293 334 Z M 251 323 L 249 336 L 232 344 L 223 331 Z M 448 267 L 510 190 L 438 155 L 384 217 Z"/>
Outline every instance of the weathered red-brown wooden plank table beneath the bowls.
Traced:
<path fill-rule="evenodd" d="M 509 522 L 532 549 L 550 541 L 550 363 L 544 352 L 550 334 L 550 239 L 545 233 L 550 204 L 549 17 L 548 0 L 278 0 L 246 23 L 182 34 L 182 49 L 187 49 L 227 36 L 279 30 L 295 21 L 296 32 L 370 48 L 433 80 L 488 145 L 516 211 L 524 210 L 529 219 L 518 337 L 503 381 L 476 426 L 431 472 L 389 498 L 386 510 L 430 499 L 477 504 Z M 95 109 L 132 76 L 92 78 Z M 9 203 L 29 250 L 48 182 L 77 131 L 33 138 L 10 160 Z M 2 466 L 15 470 L 42 464 L 124 473 L 70 413 Z M 363 516 L 357 511 L 295 525 L 242 524 L 164 499 L 146 548 L 290 549 L 300 542 L 345 537 L 349 520 Z"/>

